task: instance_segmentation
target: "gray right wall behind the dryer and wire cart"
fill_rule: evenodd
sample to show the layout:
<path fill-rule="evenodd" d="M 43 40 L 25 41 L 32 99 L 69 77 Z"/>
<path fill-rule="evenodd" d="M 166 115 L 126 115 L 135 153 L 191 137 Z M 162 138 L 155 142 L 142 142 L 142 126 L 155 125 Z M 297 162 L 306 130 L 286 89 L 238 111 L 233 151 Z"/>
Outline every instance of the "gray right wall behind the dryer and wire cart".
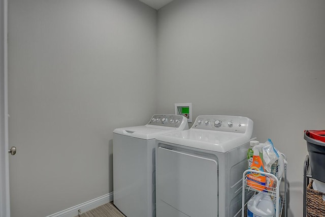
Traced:
<path fill-rule="evenodd" d="M 325 122 L 325 1 L 176 0 L 158 10 L 158 112 L 248 116 L 286 154 L 301 216 L 305 129 Z"/>

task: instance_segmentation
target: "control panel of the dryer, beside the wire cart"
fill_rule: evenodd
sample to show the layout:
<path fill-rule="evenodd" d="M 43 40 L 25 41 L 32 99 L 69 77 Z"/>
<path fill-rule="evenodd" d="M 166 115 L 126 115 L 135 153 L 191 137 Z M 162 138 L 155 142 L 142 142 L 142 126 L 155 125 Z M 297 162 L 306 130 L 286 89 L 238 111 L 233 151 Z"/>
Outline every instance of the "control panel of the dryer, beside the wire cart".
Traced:
<path fill-rule="evenodd" d="M 253 128 L 253 121 L 248 117 L 226 115 L 200 115 L 195 120 L 193 129 L 245 133 Z"/>

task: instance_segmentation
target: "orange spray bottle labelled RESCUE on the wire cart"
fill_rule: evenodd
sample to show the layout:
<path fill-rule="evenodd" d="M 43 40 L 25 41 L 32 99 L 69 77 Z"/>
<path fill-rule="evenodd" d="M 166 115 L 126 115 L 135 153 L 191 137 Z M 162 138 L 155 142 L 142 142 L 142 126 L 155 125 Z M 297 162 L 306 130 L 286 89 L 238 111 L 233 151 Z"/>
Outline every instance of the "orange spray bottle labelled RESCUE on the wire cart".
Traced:
<path fill-rule="evenodd" d="M 259 153 L 262 152 L 262 147 L 263 145 L 255 145 L 253 147 L 253 162 L 250 167 L 251 170 L 265 172 L 263 160 L 259 156 Z M 247 174 L 247 184 L 258 191 L 263 191 L 265 190 L 266 176 L 261 173 L 249 173 Z"/>

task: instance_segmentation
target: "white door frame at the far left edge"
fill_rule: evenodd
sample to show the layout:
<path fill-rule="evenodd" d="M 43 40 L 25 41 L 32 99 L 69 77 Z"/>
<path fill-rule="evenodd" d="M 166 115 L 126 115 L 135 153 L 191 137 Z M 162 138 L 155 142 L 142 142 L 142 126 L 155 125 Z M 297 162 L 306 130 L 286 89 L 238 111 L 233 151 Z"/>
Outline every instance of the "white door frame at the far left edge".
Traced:
<path fill-rule="evenodd" d="M 10 217 L 8 144 L 8 0 L 0 0 L 0 217 Z"/>

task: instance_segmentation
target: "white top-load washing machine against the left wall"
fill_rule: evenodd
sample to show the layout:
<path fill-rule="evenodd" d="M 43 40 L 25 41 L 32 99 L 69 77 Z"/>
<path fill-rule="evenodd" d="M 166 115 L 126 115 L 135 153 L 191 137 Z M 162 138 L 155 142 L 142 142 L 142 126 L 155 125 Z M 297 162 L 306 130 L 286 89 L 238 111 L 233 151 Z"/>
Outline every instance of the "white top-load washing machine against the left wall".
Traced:
<path fill-rule="evenodd" d="M 155 138 L 187 129 L 184 116 L 155 114 L 145 126 L 114 130 L 114 205 L 124 215 L 155 216 Z"/>

